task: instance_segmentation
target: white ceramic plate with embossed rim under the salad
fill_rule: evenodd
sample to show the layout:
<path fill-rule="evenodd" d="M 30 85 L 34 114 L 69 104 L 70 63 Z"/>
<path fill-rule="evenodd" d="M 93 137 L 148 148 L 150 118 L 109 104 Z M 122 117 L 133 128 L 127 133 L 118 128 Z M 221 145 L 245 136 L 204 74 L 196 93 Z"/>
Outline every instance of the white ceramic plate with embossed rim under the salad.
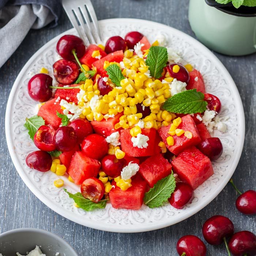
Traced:
<path fill-rule="evenodd" d="M 74 29 L 53 38 L 39 49 L 23 67 L 12 87 L 7 103 L 5 130 L 8 148 L 12 161 L 25 184 L 43 203 L 65 218 L 84 226 L 113 232 L 141 232 L 173 225 L 195 214 L 210 203 L 225 187 L 236 169 L 244 143 L 244 112 L 240 95 L 233 79 L 226 68 L 198 41 L 172 27 L 138 19 L 108 19 L 99 22 L 102 38 L 113 35 L 124 35 L 138 30 L 147 36 L 150 42 L 161 33 L 168 39 L 168 44 L 180 55 L 199 69 L 206 83 L 206 90 L 217 95 L 222 102 L 220 116 L 228 117 L 226 133 L 214 132 L 224 147 L 224 152 L 214 162 L 214 175 L 195 190 L 195 199 L 182 210 L 173 208 L 169 203 L 159 208 L 150 209 L 143 205 L 138 211 L 114 209 L 108 203 L 103 210 L 85 212 L 73 206 L 73 200 L 63 191 L 56 188 L 53 181 L 56 174 L 41 173 L 29 169 L 25 158 L 36 150 L 23 127 L 26 117 L 36 114 L 36 102 L 27 93 L 27 83 L 31 76 L 38 73 L 41 67 L 48 68 L 53 75 L 52 64 L 59 59 L 55 51 L 58 39 L 64 34 L 76 34 Z M 65 187 L 79 191 L 79 187 L 65 179 Z"/>

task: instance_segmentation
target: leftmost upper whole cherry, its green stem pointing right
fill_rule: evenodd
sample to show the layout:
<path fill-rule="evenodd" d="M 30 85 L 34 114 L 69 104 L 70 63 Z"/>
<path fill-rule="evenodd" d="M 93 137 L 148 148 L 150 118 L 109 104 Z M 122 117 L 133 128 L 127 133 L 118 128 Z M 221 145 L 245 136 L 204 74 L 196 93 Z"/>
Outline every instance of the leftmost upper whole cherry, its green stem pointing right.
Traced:
<path fill-rule="evenodd" d="M 52 97 L 52 78 L 47 74 L 37 74 L 34 75 L 27 84 L 27 90 L 29 96 L 34 99 L 34 101 L 45 102 Z"/>

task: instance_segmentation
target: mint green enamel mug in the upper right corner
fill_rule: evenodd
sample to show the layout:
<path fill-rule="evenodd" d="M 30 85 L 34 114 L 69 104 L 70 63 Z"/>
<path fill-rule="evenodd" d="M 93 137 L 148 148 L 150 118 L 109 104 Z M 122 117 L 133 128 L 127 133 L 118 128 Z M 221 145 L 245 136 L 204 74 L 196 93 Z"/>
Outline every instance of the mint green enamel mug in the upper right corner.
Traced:
<path fill-rule="evenodd" d="M 196 37 L 208 48 L 226 55 L 246 55 L 256 52 L 256 12 L 255 7 L 241 10 L 190 0 L 188 19 Z"/>

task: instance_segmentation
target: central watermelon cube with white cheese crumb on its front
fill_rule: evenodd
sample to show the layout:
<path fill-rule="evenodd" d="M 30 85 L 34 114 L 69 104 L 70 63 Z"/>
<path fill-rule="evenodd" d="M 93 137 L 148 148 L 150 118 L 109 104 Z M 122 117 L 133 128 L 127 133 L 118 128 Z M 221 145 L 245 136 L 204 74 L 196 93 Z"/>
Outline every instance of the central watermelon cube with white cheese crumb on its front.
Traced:
<path fill-rule="evenodd" d="M 159 147 L 155 148 L 156 130 L 154 128 L 142 129 L 142 134 L 148 136 L 148 146 L 146 148 L 133 147 L 132 135 L 130 129 L 121 130 L 121 147 L 122 150 L 130 157 L 147 157 L 159 152 Z"/>

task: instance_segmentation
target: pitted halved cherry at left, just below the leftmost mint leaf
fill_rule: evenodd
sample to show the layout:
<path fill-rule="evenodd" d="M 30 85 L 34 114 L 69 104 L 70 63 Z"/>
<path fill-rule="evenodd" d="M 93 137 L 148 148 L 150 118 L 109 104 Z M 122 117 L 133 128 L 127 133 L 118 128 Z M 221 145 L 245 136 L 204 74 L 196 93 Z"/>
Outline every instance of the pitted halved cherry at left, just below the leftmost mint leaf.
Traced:
<path fill-rule="evenodd" d="M 42 151 L 53 151 L 56 149 L 53 137 L 55 130 L 47 125 L 42 125 L 38 128 L 34 136 L 34 143 Z"/>

